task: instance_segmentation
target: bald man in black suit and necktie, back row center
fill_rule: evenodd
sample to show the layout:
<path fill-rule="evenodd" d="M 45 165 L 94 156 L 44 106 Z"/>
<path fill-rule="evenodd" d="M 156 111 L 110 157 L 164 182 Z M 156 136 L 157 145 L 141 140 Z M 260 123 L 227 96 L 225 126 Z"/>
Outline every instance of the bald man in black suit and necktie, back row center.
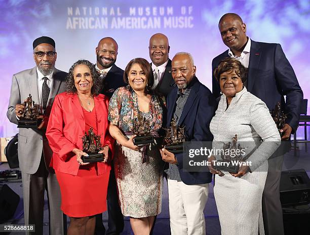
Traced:
<path fill-rule="evenodd" d="M 156 33 L 149 38 L 149 58 L 154 74 L 154 84 L 151 89 L 167 97 L 173 89 L 174 81 L 171 76 L 171 60 L 169 59 L 168 37 Z"/>

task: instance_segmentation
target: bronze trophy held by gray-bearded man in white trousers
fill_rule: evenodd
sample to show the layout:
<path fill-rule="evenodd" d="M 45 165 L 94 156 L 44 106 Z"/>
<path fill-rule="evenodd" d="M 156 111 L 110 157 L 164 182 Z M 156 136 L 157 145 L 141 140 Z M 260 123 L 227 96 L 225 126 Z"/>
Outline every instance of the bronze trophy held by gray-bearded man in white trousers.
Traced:
<path fill-rule="evenodd" d="M 183 152 L 183 142 L 185 142 L 185 126 L 179 127 L 175 120 L 171 120 L 170 128 L 166 130 L 166 137 L 164 138 L 164 148 L 174 154 Z"/>

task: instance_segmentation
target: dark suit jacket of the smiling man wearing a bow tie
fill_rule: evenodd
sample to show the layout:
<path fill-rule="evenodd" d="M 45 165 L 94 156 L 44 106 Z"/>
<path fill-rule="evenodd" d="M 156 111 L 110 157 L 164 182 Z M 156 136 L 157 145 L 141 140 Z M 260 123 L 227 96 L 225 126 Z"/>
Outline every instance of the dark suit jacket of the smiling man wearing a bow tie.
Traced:
<path fill-rule="evenodd" d="M 127 84 L 124 82 L 123 76 L 124 70 L 113 64 L 103 80 L 100 93 L 111 98 L 116 89 L 126 87 Z"/>

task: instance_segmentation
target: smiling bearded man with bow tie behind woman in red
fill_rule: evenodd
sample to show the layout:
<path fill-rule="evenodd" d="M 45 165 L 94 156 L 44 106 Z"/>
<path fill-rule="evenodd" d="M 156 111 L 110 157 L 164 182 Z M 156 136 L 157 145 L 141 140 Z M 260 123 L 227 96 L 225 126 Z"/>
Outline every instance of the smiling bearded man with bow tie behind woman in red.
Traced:
<path fill-rule="evenodd" d="M 112 37 L 102 38 L 96 47 L 97 63 L 96 68 L 101 74 L 102 90 L 104 94 L 111 98 L 113 92 L 119 87 L 124 87 L 123 75 L 124 70 L 115 65 L 117 60 L 119 46 Z M 107 190 L 107 211 L 108 211 L 108 229 L 102 224 L 102 214 L 96 215 L 97 235 L 116 235 L 120 234 L 124 229 L 124 216 L 119 205 L 119 196 L 115 181 L 113 162 L 111 162 L 111 171 Z"/>

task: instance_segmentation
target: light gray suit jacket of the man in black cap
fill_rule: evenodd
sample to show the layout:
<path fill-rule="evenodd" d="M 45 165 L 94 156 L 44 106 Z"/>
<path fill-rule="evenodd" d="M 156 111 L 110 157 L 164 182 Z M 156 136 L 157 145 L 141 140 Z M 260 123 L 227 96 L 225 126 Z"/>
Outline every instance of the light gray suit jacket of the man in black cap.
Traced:
<path fill-rule="evenodd" d="M 65 77 L 67 73 L 54 69 L 53 84 L 49 95 L 45 115 L 49 116 L 55 96 L 65 91 Z M 18 124 L 15 105 L 23 102 L 31 94 L 35 103 L 40 101 L 37 87 L 36 66 L 16 73 L 12 78 L 11 95 L 7 111 L 10 122 Z M 52 158 L 52 150 L 48 144 L 45 132 L 31 129 L 20 128 L 18 133 L 18 160 L 21 171 L 27 174 L 34 174 L 40 165 L 42 150 L 47 169 Z"/>

